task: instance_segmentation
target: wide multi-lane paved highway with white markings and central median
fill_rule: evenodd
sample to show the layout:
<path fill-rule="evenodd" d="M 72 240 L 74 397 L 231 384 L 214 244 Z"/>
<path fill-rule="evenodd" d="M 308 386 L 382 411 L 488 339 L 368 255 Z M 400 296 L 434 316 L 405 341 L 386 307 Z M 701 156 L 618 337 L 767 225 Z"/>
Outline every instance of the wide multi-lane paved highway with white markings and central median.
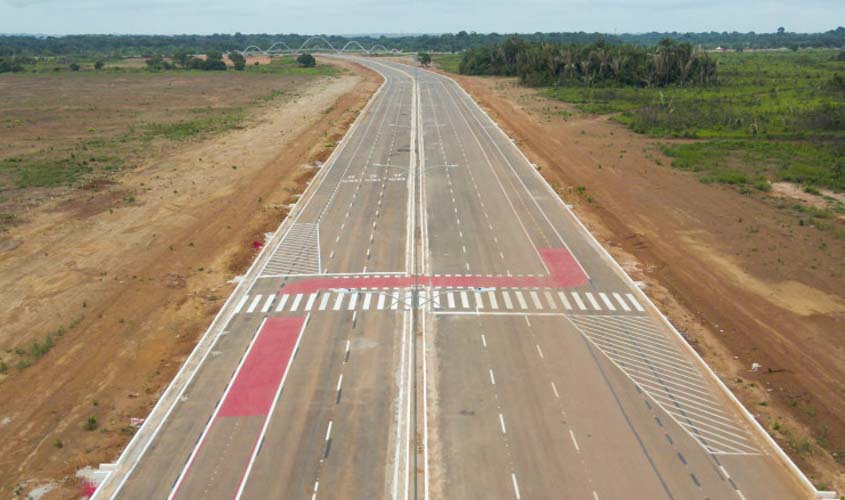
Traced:
<path fill-rule="evenodd" d="M 807 498 L 451 79 L 385 82 L 97 498 Z"/>

